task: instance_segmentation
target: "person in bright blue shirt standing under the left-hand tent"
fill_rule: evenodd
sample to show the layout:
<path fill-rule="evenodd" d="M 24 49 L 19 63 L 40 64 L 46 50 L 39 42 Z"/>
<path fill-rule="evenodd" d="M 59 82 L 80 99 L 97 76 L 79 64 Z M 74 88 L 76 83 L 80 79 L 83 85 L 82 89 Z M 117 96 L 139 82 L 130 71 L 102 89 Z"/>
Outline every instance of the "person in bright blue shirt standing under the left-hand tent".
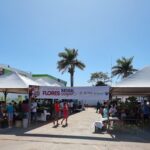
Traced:
<path fill-rule="evenodd" d="M 7 114 L 8 114 L 8 126 L 9 128 L 12 128 L 13 126 L 13 116 L 14 116 L 14 108 L 12 103 L 9 103 L 7 106 Z"/>

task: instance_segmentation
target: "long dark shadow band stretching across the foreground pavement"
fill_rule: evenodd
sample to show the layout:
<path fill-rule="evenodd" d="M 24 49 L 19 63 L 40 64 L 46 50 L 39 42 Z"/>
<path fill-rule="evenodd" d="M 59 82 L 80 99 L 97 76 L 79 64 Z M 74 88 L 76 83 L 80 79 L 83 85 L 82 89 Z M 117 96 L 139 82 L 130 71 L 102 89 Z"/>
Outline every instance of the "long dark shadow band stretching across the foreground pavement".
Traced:
<path fill-rule="evenodd" d="M 43 124 L 43 123 L 42 123 Z M 38 125 L 39 126 L 39 125 Z M 99 140 L 99 141 L 113 141 L 113 142 L 140 142 L 140 143 L 150 143 L 150 136 L 143 135 L 130 135 L 127 133 L 113 133 L 109 132 L 111 137 L 105 138 L 101 137 L 102 134 L 106 133 L 94 133 L 97 136 L 84 136 L 84 135 L 58 135 L 58 134 L 32 134 L 27 133 L 28 131 L 31 131 L 32 129 L 35 129 L 38 127 L 37 125 L 30 127 L 28 129 L 22 129 L 22 128 L 13 128 L 13 129 L 6 129 L 6 130 L 0 130 L 0 134 L 5 135 L 16 135 L 16 136 L 26 136 L 26 137 L 44 137 L 44 138 L 58 138 L 58 139 L 79 139 L 79 140 Z M 56 129 L 57 132 L 57 129 Z M 94 135 L 93 134 L 93 135 Z M 149 135 L 149 134 L 148 134 Z"/>

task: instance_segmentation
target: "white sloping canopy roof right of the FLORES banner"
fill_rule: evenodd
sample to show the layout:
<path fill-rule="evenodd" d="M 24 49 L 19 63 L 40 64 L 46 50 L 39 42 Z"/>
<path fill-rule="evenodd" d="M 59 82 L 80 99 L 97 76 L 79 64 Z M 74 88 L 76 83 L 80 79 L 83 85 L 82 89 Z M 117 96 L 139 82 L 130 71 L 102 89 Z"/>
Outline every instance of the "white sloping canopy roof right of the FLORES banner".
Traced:
<path fill-rule="evenodd" d="M 150 66 L 114 85 L 110 93 L 112 96 L 150 96 Z"/>

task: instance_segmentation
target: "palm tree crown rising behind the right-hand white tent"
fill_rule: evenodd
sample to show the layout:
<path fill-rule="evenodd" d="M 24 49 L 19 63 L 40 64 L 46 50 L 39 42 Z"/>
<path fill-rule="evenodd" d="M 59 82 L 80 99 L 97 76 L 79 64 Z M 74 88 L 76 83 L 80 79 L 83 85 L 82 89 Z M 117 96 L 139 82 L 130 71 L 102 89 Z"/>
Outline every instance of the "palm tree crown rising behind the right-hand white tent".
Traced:
<path fill-rule="evenodd" d="M 122 57 L 121 59 L 118 59 L 116 61 L 117 65 L 112 67 L 112 76 L 121 76 L 122 78 L 125 78 L 136 72 L 137 69 L 133 68 L 132 61 L 133 57 Z"/>

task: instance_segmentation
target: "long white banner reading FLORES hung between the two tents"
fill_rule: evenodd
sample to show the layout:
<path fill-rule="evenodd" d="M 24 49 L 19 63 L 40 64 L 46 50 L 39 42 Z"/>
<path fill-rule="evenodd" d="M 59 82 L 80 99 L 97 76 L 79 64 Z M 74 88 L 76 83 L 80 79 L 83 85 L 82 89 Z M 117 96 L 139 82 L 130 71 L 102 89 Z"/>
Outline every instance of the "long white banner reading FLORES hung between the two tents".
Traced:
<path fill-rule="evenodd" d="M 29 96 L 37 99 L 108 100 L 109 86 L 48 87 L 30 86 Z"/>

